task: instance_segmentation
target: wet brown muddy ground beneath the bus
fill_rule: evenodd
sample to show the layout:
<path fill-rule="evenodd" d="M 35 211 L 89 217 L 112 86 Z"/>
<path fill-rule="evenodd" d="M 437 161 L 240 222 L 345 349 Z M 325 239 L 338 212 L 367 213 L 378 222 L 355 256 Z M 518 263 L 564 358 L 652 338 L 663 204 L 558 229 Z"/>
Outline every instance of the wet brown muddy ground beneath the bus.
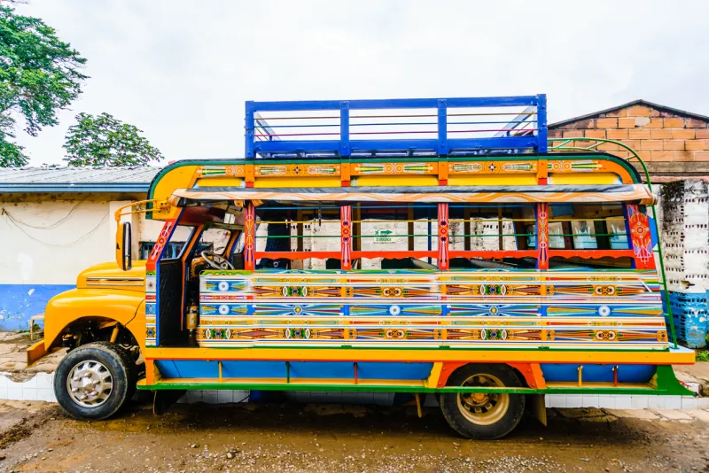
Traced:
<path fill-rule="evenodd" d="M 104 422 L 0 403 L 0 471 L 709 471 L 709 423 L 549 409 L 509 438 L 456 437 L 436 408 L 132 405 Z"/>

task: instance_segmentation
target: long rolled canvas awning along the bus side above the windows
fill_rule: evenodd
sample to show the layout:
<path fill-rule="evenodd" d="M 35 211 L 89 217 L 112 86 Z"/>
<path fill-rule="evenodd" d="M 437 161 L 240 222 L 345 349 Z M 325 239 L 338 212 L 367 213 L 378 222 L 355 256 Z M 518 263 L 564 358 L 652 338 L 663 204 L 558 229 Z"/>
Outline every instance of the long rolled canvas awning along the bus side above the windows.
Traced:
<path fill-rule="evenodd" d="M 246 189 L 209 187 L 178 189 L 170 198 L 176 206 L 216 201 L 277 200 L 281 202 L 381 202 L 511 204 L 632 202 L 652 205 L 657 196 L 644 184 L 437 186 Z"/>

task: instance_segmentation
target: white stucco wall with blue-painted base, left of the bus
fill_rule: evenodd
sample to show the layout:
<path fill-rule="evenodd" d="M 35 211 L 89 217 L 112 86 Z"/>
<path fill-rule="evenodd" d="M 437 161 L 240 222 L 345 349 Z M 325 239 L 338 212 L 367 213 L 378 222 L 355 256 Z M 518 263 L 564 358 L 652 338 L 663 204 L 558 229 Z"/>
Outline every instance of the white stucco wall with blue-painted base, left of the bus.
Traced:
<path fill-rule="evenodd" d="M 0 330 L 27 329 L 47 301 L 74 287 L 82 270 L 115 259 L 114 212 L 144 199 L 125 194 L 0 195 Z M 162 222 L 129 215 L 133 254 L 154 242 Z M 178 229 L 175 239 L 189 231 Z"/>

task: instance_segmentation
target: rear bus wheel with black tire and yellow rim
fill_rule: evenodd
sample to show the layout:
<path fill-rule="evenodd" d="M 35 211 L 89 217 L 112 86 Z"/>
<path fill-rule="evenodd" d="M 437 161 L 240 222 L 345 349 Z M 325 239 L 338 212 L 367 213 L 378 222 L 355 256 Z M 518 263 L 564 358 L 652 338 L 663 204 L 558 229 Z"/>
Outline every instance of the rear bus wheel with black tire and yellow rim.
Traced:
<path fill-rule="evenodd" d="M 519 387 L 517 372 L 507 365 L 471 363 L 456 369 L 448 386 L 502 385 Z M 525 413 L 524 394 L 490 394 L 484 399 L 447 392 L 440 395 L 440 410 L 448 424 L 465 438 L 495 440 L 508 435 Z M 505 407 L 506 406 L 506 407 Z M 479 409 L 481 412 L 473 412 Z M 474 419 L 474 421 L 472 420 Z"/>

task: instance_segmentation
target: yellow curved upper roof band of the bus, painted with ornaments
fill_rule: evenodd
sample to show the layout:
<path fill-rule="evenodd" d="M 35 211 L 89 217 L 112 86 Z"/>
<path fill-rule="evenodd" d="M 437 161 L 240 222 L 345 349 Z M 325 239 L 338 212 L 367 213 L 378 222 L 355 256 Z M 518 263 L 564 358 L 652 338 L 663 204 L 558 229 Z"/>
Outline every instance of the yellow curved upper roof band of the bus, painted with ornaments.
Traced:
<path fill-rule="evenodd" d="M 599 186 L 625 186 L 625 192 L 630 189 L 628 186 L 640 183 L 635 167 L 603 152 L 431 159 L 192 159 L 177 161 L 160 171 L 151 183 L 148 198 L 167 202 L 175 190 L 199 190 L 202 195 L 213 193 L 216 198 L 224 189 L 284 195 L 294 190 L 362 193 L 365 188 L 370 193 L 382 193 L 384 188 L 401 193 L 410 193 L 406 189 L 426 189 L 424 193 L 438 195 L 461 191 L 481 194 L 496 189 L 518 198 L 523 192 L 541 195 L 547 191 L 546 186 L 551 186 L 547 188 L 549 192 L 568 194 L 579 192 L 584 186 L 596 190 Z M 615 194 L 627 201 L 651 199 L 649 190 L 643 190 L 642 196 L 622 195 Z M 148 213 L 148 218 L 167 220 L 174 213 L 174 207 L 163 208 Z"/>

